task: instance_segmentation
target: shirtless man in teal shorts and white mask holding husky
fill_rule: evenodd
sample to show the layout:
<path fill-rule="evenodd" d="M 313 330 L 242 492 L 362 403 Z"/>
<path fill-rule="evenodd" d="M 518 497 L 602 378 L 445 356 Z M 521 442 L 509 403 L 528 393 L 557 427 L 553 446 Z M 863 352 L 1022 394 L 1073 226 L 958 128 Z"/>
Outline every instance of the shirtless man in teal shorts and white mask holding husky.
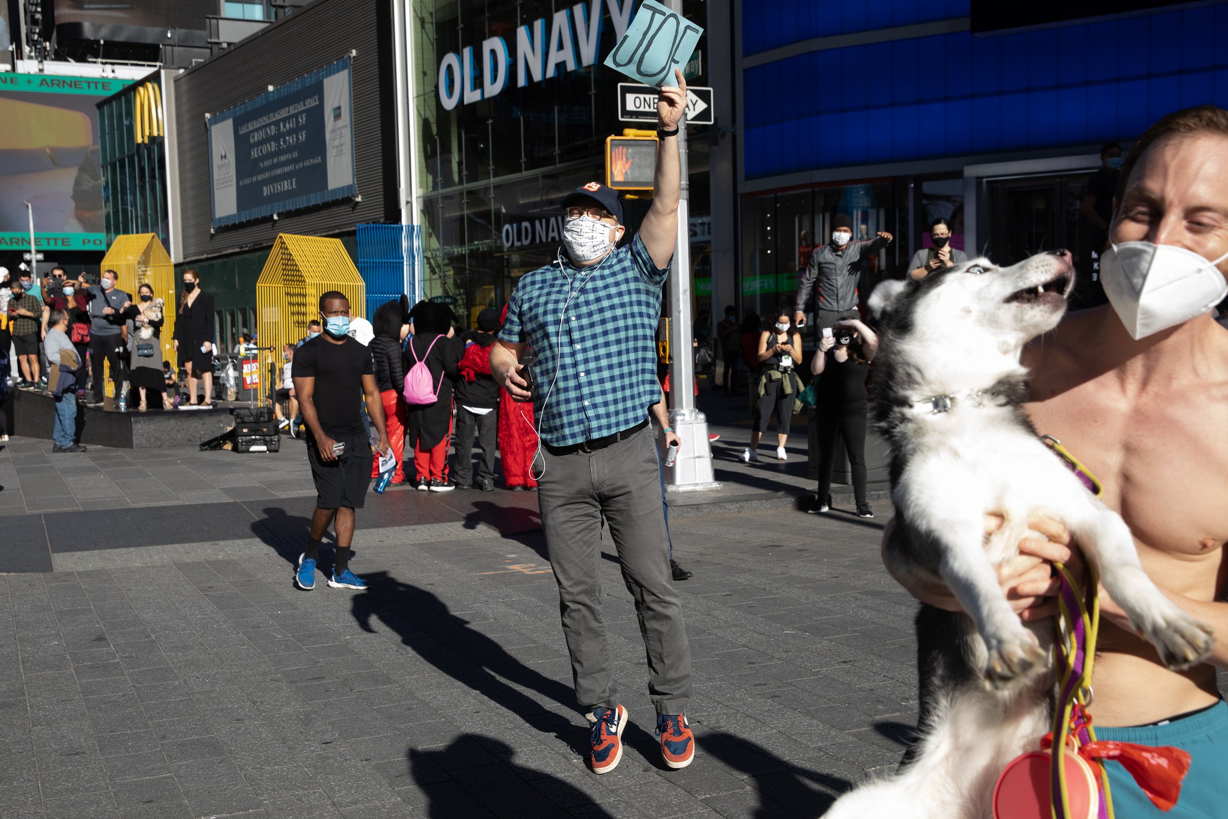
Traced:
<path fill-rule="evenodd" d="M 1100 591 L 1098 739 L 1174 745 L 1192 756 L 1168 813 L 1108 763 L 1115 813 L 1195 819 L 1223 814 L 1228 781 L 1228 705 L 1216 685 L 1216 668 L 1228 668 L 1228 332 L 1210 313 L 1228 278 L 1228 111 L 1202 106 L 1160 119 L 1121 177 L 1116 247 L 1102 262 L 1110 305 L 1071 313 L 1025 351 L 1027 411 L 1100 480 L 1156 584 L 1214 629 L 1206 663 L 1173 672 Z M 1000 524 L 986 522 L 989 530 Z M 1065 527 L 1038 519 L 1033 529 L 1049 540 L 1024 540 L 1020 550 L 1038 562 L 1002 578 L 1024 620 L 1057 609 L 1057 582 L 1041 561 L 1072 559 Z M 960 608 L 946 588 L 909 591 Z"/>

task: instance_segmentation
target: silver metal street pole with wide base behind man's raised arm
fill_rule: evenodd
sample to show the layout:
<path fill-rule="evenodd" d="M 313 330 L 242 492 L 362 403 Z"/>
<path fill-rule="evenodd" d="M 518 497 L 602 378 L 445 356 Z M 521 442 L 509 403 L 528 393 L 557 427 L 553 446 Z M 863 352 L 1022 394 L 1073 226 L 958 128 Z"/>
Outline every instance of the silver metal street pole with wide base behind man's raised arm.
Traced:
<path fill-rule="evenodd" d="M 669 10 L 682 15 L 682 0 L 669 0 Z M 675 80 L 670 77 L 667 83 Z M 690 270 L 690 171 L 686 163 L 686 115 L 678 123 L 682 192 L 678 201 L 678 241 L 669 271 L 669 424 L 682 438 L 673 467 L 666 467 L 666 484 L 675 491 L 716 489 L 707 417 L 695 409 L 695 355 L 691 347 Z"/>

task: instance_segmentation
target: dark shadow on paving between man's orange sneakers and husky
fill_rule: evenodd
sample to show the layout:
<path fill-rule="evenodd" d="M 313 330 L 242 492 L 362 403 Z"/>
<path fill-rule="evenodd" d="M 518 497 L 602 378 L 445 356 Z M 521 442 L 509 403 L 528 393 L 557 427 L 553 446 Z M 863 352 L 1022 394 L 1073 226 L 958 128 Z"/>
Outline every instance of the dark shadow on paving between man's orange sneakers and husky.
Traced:
<path fill-rule="evenodd" d="M 846 778 L 807 770 L 804 763 L 788 763 L 763 745 L 729 733 L 705 731 L 696 734 L 695 743 L 726 767 L 755 778 L 759 807 L 750 814 L 754 819 L 817 819 L 836 797 L 852 788 Z"/>

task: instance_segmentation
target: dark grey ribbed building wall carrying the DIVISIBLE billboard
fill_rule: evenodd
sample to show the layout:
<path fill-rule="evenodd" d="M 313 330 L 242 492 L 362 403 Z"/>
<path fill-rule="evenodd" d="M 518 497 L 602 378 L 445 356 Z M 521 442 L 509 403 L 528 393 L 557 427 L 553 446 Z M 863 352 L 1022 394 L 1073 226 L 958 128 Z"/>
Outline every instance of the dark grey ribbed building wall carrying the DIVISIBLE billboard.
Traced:
<path fill-rule="evenodd" d="M 303 104 L 296 93 L 308 93 L 311 99 L 311 87 L 334 87 L 329 77 L 340 76 L 341 68 L 348 77 L 344 99 L 336 106 L 325 99 L 325 115 L 312 113 L 311 122 L 343 125 L 344 144 L 317 145 L 314 140 L 325 139 L 323 133 L 284 128 L 290 120 L 276 118 L 280 109 L 254 123 L 239 122 L 243 112 L 255 112 L 259 106 L 278 109 L 273 102 L 278 98 L 286 106 Z M 171 247 L 177 266 L 195 269 L 201 286 L 214 293 L 219 343 L 225 349 L 232 347 L 239 333 L 257 328 L 255 282 L 279 233 L 336 237 L 356 259 L 357 225 L 398 221 L 394 72 L 387 0 L 317 0 L 166 83 L 173 99 L 168 125 L 173 130 Z M 282 93 L 286 96 L 279 97 Z M 231 129 L 233 144 L 227 147 L 217 142 L 210 123 L 231 113 L 236 125 Z M 260 126 L 246 130 L 251 124 Z M 298 139 L 306 141 L 296 144 Z M 220 215 L 219 173 L 225 171 L 215 162 L 221 157 L 233 161 L 238 176 L 243 162 L 253 157 L 273 173 L 289 169 L 286 163 L 296 157 L 303 165 L 309 151 L 314 153 L 307 162 L 334 147 L 350 160 L 343 195 L 327 190 L 306 196 L 293 195 L 301 190 L 281 196 L 269 193 L 308 185 L 318 177 L 301 169 L 254 185 L 264 189 L 263 198 L 260 190 L 239 190 L 235 212 Z M 233 188 L 231 196 L 236 196 Z M 289 206 L 279 210 L 266 201 Z"/>

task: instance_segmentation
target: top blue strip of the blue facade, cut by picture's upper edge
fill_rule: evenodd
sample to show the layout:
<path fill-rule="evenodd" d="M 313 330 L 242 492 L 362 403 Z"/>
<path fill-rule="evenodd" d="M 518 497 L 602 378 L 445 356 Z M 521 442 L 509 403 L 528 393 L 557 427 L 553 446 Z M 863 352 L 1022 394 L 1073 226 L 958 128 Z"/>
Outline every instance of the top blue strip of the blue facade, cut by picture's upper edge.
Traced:
<path fill-rule="evenodd" d="M 970 0 L 742 0 L 742 54 L 815 37 L 966 17 Z"/>

